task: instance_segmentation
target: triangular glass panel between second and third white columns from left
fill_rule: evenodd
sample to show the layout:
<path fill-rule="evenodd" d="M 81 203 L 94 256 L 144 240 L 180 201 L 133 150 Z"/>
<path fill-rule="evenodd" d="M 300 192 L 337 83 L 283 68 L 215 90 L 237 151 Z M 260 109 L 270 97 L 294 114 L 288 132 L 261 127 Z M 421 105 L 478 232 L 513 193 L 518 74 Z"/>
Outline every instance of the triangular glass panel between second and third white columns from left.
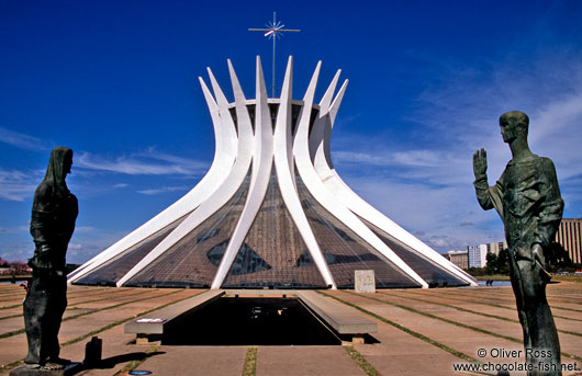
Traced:
<path fill-rule="evenodd" d="M 246 202 L 250 171 L 234 196 L 164 254 L 127 281 L 127 286 L 210 287 Z"/>

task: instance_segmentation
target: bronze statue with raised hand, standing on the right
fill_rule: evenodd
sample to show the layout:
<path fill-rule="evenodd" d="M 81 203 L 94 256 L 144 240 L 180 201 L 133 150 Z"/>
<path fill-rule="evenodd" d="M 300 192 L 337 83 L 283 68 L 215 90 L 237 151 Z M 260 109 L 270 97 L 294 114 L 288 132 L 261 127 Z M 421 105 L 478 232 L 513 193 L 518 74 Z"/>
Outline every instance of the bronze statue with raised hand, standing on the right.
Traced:
<path fill-rule="evenodd" d="M 544 250 L 552 242 L 563 212 L 556 169 L 549 158 L 529 150 L 529 118 L 519 111 L 500 117 L 503 141 L 510 145 L 512 160 L 494 186 L 486 178 L 486 152 L 473 155 L 474 189 L 481 207 L 495 208 L 505 226 L 510 248 L 510 273 L 519 322 L 528 375 L 561 375 L 560 342 L 546 285 Z"/>

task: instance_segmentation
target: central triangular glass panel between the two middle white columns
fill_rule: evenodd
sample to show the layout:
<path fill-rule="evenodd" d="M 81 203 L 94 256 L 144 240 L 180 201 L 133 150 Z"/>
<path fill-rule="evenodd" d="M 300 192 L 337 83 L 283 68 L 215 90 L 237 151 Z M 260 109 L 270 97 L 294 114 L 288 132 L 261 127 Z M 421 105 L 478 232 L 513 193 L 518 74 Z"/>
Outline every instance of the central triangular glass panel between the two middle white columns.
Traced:
<path fill-rule="evenodd" d="M 275 168 L 265 200 L 222 287 L 326 287 L 284 205 Z"/>

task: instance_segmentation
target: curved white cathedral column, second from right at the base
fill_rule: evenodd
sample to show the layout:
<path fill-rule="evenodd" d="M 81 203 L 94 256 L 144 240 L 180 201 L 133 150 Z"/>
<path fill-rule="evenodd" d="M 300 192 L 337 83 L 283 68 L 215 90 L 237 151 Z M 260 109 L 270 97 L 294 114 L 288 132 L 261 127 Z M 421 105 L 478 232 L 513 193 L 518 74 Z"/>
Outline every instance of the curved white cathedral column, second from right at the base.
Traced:
<path fill-rule="evenodd" d="M 423 287 L 428 287 L 428 284 L 413 271 L 404 261 L 402 261 L 382 240 L 380 240 L 366 225 L 361 223 L 350 210 L 348 210 L 342 202 L 336 201 L 333 195 L 329 195 L 327 189 L 320 180 L 320 176 L 315 172 L 315 169 L 311 162 L 310 150 L 309 150 L 309 129 L 311 121 L 311 109 L 313 106 L 313 96 L 315 94 L 315 87 L 317 84 L 317 76 L 320 73 L 321 61 L 315 68 L 313 78 L 305 92 L 303 99 L 303 111 L 301 113 L 295 139 L 293 143 L 293 155 L 295 156 L 295 163 L 299 170 L 299 174 L 303 180 L 303 183 L 313 195 L 313 197 L 334 217 L 339 219 L 344 225 L 349 227 L 356 232 L 363 241 L 368 242 L 377 251 L 382 253 L 388 260 L 390 260 L 394 266 L 400 269 L 403 274 L 407 275 Z M 336 98 L 337 101 L 337 98 Z M 333 105 L 332 105 L 333 109 Z M 324 109 L 320 107 L 320 111 Z M 337 111 L 336 111 L 337 113 Z"/>

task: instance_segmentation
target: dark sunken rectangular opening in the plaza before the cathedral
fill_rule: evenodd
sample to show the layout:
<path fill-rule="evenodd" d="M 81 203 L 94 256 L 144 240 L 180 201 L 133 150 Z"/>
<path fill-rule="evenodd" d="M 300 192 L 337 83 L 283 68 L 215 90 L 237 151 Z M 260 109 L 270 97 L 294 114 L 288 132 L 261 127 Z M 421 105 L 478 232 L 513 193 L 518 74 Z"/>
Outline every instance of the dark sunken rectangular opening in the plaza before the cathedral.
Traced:
<path fill-rule="evenodd" d="M 338 345 L 339 338 L 293 297 L 222 297 L 172 323 L 167 345 Z"/>

